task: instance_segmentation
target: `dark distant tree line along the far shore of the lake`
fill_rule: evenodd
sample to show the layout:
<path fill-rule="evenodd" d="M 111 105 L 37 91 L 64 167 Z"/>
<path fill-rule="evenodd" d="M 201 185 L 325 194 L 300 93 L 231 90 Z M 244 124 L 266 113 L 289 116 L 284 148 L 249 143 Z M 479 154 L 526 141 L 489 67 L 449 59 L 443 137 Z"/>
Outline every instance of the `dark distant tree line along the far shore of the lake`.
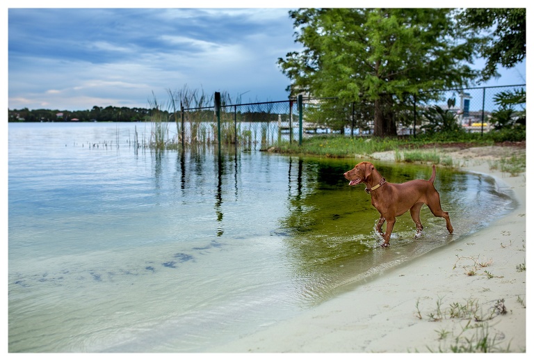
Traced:
<path fill-rule="evenodd" d="M 154 111 L 160 116 L 174 121 L 168 111 L 161 109 L 128 108 L 126 106 L 93 106 L 85 111 L 60 111 L 51 109 L 8 109 L 10 122 L 143 122 L 150 120 Z M 170 119 L 172 118 L 172 119 Z"/>

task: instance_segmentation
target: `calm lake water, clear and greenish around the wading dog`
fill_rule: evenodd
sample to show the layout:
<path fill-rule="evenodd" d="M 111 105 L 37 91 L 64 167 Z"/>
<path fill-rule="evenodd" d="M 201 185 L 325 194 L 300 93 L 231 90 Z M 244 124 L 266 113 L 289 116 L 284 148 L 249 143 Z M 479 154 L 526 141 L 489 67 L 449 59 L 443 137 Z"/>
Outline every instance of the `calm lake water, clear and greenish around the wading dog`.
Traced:
<path fill-rule="evenodd" d="M 423 236 L 407 214 L 384 250 L 364 186 L 343 178 L 359 159 L 134 152 L 135 129 L 9 124 L 8 351 L 202 352 L 515 207 L 492 178 L 439 167 L 455 234 L 424 207 Z M 431 173 L 375 166 L 390 182 Z"/>

